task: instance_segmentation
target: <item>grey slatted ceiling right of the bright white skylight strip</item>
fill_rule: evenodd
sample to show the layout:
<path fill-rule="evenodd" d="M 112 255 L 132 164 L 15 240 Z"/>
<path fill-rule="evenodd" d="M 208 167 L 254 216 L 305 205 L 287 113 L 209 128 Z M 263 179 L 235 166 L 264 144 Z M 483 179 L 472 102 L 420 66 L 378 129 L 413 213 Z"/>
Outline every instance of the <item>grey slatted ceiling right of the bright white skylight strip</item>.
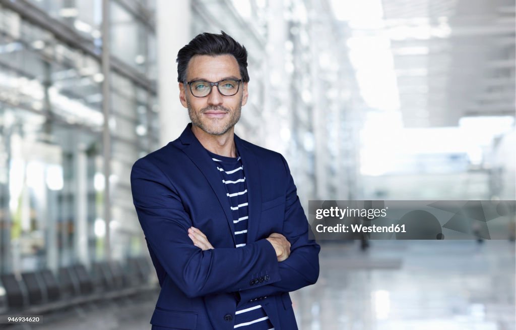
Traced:
<path fill-rule="evenodd" d="M 382 7 L 405 127 L 514 116 L 513 0 L 383 0 Z"/>

